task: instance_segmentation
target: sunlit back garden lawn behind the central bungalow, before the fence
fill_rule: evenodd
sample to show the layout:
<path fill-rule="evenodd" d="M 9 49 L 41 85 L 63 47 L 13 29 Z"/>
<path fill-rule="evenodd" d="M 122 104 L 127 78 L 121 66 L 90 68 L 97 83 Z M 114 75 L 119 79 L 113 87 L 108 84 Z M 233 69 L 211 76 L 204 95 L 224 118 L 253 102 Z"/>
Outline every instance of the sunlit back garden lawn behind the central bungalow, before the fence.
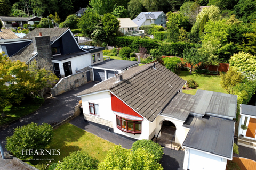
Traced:
<path fill-rule="evenodd" d="M 196 72 L 190 75 L 189 71 L 181 71 L 179 77 L 184 80 L 194 79 L 198 84 L 196 89 L 182 91 L 186 94 L 195 95 L 197 89 L 227 93 L 227 91 L 220 86 L 221 79 L 219 75 L 204 75 Z"/>

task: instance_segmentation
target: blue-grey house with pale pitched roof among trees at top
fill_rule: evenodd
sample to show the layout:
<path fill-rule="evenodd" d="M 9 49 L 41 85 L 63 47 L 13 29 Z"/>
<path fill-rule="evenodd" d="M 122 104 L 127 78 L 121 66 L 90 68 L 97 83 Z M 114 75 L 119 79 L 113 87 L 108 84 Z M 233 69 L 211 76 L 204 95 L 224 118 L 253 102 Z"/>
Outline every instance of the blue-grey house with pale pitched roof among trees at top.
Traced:
<path fill-rule="evenodd" d="M 141 12 L 132 21 L 139 27 L 143 25 L 157 24 L 158 26 L 166 27 L 167 16 L 163 11 L 156 12 Z"/>

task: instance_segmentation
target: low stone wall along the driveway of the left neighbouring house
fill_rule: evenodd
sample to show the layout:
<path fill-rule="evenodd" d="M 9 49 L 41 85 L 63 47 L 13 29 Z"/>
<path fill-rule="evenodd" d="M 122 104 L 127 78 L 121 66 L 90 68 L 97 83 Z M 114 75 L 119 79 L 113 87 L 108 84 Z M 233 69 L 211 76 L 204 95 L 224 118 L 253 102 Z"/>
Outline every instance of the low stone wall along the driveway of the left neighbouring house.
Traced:
<path fill-rule="evenodd" d="M 52 96 L 57 96 L 63 94 L 63 92 L 67 92 L 69 90 L 75 89 L 87 82 L 87 70 L 90 70 L 90 78 L 91 81 L 93 80 L 93 73 L 92 69 L 87 68 L 84 70 L 79 71 L 76 74 L 69 75 L 68 77 L 60 79 L 60 81 L 50 89 Z M 91 82 L 90 81 L 90 82 Z"/>

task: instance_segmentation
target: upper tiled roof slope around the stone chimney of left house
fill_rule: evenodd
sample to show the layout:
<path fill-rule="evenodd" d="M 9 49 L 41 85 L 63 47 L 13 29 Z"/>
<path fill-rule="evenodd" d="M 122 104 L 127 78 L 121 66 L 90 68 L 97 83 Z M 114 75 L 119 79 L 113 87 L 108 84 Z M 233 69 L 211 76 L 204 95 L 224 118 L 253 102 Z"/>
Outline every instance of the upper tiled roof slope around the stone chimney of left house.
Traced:
<path fill-rule="evenodd" d="M 69 28 L 35 28 L 23 38 L 31 38 L 39 36 L 39 32 L 42 32 L 42 36 L 50 36 L 51 43 L 58 39 Z"/>

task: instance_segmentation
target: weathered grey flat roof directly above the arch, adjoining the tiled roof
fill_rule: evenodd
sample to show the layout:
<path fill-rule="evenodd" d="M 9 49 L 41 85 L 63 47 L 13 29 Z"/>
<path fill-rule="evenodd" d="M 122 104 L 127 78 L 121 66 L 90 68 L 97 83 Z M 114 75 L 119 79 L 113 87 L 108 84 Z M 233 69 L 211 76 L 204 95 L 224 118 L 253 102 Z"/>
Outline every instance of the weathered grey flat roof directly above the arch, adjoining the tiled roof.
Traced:
<path fill-rule="evenodd" d="M 161 115 L 177 118 L 182 121 L 186 121 L 193 103 L 191 100 L 194 95 L 183 94 L 178 92 L 178 94 L 171 100 L 170 104 L 167 105 Z"/>

